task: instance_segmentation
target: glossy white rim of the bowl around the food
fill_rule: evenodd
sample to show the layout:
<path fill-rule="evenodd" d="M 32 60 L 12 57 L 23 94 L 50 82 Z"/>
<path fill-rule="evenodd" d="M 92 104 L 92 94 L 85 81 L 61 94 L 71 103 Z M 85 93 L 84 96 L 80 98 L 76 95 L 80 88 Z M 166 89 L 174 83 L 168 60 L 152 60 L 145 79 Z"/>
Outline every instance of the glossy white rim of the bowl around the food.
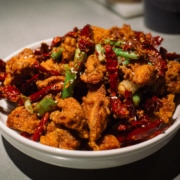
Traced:
<path fill-rule="evenodd" d="M 10 59 L 12 56 L 15 56 L 20 51 L 22 51 L 24 48 L 37 48 L 40 46 L 41 43 L 50 43 L 52 41 L 52 38 L 44 39 L 37 41 L 35 43 L 29 44 L 27 46 L 24 46 L 15 52 L 8 55 L 6 58 L 4 58 L 5 61 Z M 161 133 L 157 135 L 156 137 L 153 137 L 152 139 L 143 141 L 141 143 L 122 147 L 118 149 L 111 149 L 111 150 L 100 150 L 100 151 L 83 151 L 83 150 L 67 150 L 67 149 L 60 149 L 56 147 L 51 147 L 47 145 L 40 144 L 38 142 L 34 142 L 30 139 L 27 139 L 23 136 L 21 136 L 18 132 L 15 130 L 12 130 L 6 126 L 6 124 L 2 121 L 1 114 L 0 114 L 0 132 L 2 131 L 2 135 L 9 136 L 13 138 L 14 140 L 20 142 L 23 145 L 26 145 L 29 148 L 36 149 L 41 152 L 48 152 L 57 156 L 64 156 L 64 157 L 86 157 L 86 158 L 97 158 L 97 157 L 108 157 L 108 156 L 116 156 L 117 154 L 124 155 L 126 153 L 133 153 L 135 150 L 142 149 L 142 148 L 148 148 L 149 146 L 153 146 L 154 144 L 158 144 L 160 140 L 166 139 L 167 137 L 170 137 L 173 135 L 174 132 L 178 131 L 180 129 L 180 104 L 177 105 L 175 113 L 173 115 L 174 123 L 168 127 L 164 131 L 164 133 Z"/>

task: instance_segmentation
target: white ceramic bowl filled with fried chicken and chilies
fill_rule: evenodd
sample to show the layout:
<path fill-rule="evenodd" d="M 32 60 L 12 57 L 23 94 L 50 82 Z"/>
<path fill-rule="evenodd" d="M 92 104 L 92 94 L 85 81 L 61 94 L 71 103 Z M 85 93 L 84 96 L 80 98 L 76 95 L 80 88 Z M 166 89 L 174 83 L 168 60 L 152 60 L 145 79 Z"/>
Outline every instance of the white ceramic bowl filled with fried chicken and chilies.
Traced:
<path fill-rule="evenodd" d="M 43 42 L 50 41 L 51 39 L 47 39 Z M 36 48 L 39 47 L 41 42 L 26 47 Z M 10 59 L 22 49 L 12 53 L 5 60 Z M 0 106 L 6 110 L 9 108 L 4 100 L 0 101 Z M 2 113 L 0 113 L 0 130 L 5 139 L 14 147 L 40 161 L 61 167 L 100 169 L 129 164 L 158 151 L 173 138 L 180 128 L 180 105 L 177 106 L 173 118 L 176 119 L 174 124 L 163 134 L 136 145 L 104 151 L 64 150 L 28 140 L 6 126 L 7 116 Z"/>

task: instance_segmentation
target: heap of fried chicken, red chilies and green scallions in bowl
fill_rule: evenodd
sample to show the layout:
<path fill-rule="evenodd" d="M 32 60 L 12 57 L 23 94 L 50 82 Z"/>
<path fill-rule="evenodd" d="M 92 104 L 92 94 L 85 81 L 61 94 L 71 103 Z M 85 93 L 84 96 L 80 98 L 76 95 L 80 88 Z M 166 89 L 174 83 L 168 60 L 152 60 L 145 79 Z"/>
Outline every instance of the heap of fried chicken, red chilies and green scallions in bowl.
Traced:
<path fill-rule="evenodd" d="M 109 150 L 169 128 L 180 93 L 179 54 L 130 26 L 85 25 L 0 61 L 7 126 L 44 145 Z"/>

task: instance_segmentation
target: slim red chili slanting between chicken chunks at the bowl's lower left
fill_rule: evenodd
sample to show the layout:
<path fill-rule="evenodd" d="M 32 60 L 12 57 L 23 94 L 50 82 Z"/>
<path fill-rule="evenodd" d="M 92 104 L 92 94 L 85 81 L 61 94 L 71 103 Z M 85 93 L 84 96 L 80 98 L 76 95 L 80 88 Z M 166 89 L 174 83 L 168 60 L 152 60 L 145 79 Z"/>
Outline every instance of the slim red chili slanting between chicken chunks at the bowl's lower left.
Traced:
<path fill-rule="evenodd" d="M 34 134 L 31 136 L 31 139 L 33 141 L 39 141 L 41 135 L 43 134 L 44 127 L 45 127 L 48 120 L 49 120 L 49 113 L 47 112 L 41 118 L 41 120 L 39 122 L 39 126 L 36 128 L 36 130 L 34 131 Z"/>

